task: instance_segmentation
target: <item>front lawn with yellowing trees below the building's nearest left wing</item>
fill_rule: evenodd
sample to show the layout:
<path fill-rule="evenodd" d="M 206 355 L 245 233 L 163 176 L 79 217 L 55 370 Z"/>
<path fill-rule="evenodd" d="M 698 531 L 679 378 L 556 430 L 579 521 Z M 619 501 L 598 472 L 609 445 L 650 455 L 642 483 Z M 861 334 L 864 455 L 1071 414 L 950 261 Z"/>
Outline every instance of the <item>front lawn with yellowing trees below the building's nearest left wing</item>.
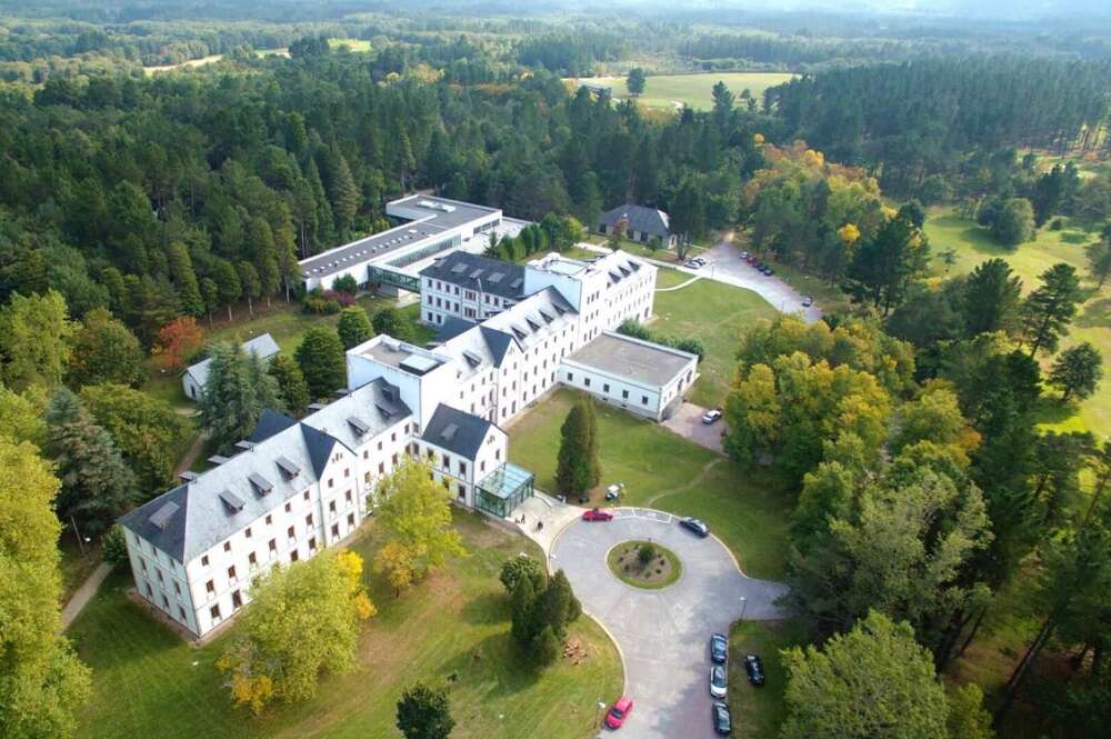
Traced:
<path fill-rule="evenodd" d="M 327 677 L 316 698 L 251 719 L 232 708 L 213 662 L 231 633 L 194 649 L 124 597 L 130 577 L 113 573 L 69 631 L 93 670 L 93 695 L 80 736 L 250 739 L 253 737 L 400 737 L 394 706 L 422 679 L 451 683 L 456 739 L 579 739 L 591 736 L 597 702 L 621 690 L 621 662 L 601 629 L 583 618 L 571 629 L 588 657 L 537 673 L 521 665 L 509 636 L 509 602 L 498 572 L 531 542 L 459 512 L 470 556 L 394 599 L 369 577 L 379 613 L 366 628 L 359 667 Z M 352 548 L 368 560 L 372 529 Z"/>

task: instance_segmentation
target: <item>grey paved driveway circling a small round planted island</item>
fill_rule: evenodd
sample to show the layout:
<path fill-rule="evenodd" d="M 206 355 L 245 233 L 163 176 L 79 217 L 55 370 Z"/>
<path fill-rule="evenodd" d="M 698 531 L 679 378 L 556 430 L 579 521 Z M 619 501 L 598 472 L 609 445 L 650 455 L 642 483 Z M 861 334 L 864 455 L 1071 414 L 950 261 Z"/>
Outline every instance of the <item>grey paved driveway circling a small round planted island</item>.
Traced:
<path fill-rule="evenodd" d="M 619 580 L 605 555 L 629 539 L 669 548 L 682 561 L 682 577 L 661 590 Z M 619 733 L 630 739 L 717 736 L 710 722 L 710 635 L 728 635 L 742 607 L 747 621 L 779 618 L 773 601 L 785 588 L 742 575 L 714 537 L 700 539 L 680 527 L 677 517 L 642 508 L 619 508 L 604 523 L 570 523 L 550 557 L 552 569 L 567 573 L 583 610 L 605 627 L 621 651 L 624 692 L 633 710 Z M 748 682 L 729 689 L 753 690 Z M 598 698 L 611 703 L 618 696 Z M 733 725 L 734 733 L 743 736 L 744 717 L 734 716 Z"/>

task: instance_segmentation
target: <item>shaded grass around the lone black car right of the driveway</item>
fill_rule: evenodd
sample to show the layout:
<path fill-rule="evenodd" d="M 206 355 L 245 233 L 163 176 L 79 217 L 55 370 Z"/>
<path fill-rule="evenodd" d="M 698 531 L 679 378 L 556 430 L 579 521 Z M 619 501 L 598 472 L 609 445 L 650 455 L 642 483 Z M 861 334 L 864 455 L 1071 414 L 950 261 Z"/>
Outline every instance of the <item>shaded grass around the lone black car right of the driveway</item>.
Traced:
<path fill-rule="evenodd" d="M 729 710 L 744 727 L 744 736 L 779 736 L 787 718 L 787 670 L 779 651 L 804 643 L 805 625 L 799 619 L 737 621 L 729 630 Z M 763 661 L 763 687 L 749 683 L 745 655 L 759 655 Z"/>

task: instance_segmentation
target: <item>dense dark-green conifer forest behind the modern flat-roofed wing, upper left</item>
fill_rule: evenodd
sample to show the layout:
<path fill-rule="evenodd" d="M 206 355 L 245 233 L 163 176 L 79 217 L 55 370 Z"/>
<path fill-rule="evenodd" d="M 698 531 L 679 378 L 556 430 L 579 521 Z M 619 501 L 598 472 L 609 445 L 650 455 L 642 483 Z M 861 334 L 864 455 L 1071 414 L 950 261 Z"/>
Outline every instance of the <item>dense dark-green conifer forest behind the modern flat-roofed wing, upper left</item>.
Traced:
<path fill-rule="evenodd" d="M 291 297 L 297 260 L 386 228 L 417 188 L 540 220 L 637 201 L 680 232 L 732 223 L 773 121 L 569 96 L 538 73 L 506 87 L 417 74 L 327 43 L 237 76 L 51 79 L 0 110 L 0 300 L 60 292 L 108 308 L 150 346 L 160 327 Z M 450 131 L 450 133 L 449 133 Z M 79 132 L 74 134 L 74 132 Z"/>

